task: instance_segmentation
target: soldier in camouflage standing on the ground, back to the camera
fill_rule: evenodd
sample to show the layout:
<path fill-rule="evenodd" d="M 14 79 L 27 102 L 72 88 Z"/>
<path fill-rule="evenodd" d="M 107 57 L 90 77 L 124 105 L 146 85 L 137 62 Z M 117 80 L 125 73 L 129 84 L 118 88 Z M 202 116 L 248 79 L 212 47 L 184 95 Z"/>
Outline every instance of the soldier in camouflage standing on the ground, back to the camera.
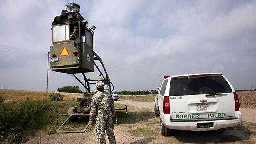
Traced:
<path fill-rule="evenodd" d="M 114 136 L 114 123 L 112 118 L 115 116 L 114 99 L 109 92 L 104 91 L 104 83 L 96 83 L 98 92 L 92 97 L 91 113 L 89 123 L 96 129 L 96 141 L 98 144 L 105 144 L 105 130 L 108 135 L 109 143 L 116 144 Z"/>

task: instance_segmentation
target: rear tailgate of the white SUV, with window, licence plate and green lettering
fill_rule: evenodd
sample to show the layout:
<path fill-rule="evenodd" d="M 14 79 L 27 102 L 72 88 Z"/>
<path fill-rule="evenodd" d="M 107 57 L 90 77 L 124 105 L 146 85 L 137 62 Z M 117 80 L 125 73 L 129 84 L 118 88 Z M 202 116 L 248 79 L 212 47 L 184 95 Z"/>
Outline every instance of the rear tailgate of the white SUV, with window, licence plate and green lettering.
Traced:
<path fill-rule="evenodd" d="M 228 119 L 235 114 L 234 94 L 222 74 L 173 77 L 171 121 Z"/>

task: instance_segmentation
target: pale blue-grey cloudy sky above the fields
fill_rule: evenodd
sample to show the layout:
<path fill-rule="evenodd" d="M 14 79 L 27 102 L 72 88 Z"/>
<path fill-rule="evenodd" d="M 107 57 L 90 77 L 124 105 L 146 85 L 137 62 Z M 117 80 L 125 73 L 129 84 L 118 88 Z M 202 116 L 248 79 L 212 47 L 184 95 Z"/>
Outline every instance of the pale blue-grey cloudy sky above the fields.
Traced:
<path fill-rule="evenodd" d="M 0 0 L 0 89 L 46 91 L 51 24 L 68 2 Z M 114 91 L 204 72 L 224 74 L 235 89 L 256 88 L 256 0 L 73 2 L 96 26 L 95 51 Z M 71 74 L 49 71 L 48 91 L 67 85 L 84 90 Z"/>

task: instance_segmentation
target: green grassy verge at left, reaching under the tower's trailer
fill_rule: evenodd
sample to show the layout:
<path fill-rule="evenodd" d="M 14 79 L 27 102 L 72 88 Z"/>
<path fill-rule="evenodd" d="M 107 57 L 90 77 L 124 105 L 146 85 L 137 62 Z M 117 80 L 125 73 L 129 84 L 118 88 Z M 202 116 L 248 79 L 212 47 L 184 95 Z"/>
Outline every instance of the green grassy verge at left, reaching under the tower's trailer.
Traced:
<path fill-rule="evenodd" d="M 25 100 L 0 104 L 0 136 L 4 139 L 11 132 L 21 134 L 23 137 L 55 134 L 57 128 L 67 117 L 59 117 L 56 122 L 56 110 L 60 114 L 67 114 L 68 108 L 76 106 L 74 100 L 48 101 L 48 100 Z M 124 104 L 115 104 L 116 108 L 124 108 Z M 122 124 L 122 118 L 128 117 L 124 111 L 118 111 L 118 123 Z M 115 122 L 115 120 L 114 120 Z M 88 118 L 80 117 L 78 122 L 66 122 L 61 130 L 83 130 L 88 124 Z M 89 127 L 87 132 L 92 132 L 94 127 Z"/>

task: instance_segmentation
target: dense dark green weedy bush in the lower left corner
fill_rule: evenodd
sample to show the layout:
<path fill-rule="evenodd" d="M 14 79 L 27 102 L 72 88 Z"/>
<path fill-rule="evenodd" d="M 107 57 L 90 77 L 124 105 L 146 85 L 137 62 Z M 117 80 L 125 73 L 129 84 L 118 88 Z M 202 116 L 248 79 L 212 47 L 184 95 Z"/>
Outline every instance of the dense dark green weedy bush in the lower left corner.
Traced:
<path fill-rule="evenodd" d="M 18 142 L 26 130 L 42 128 L 49 123 L 46 112 L 51 111 L 48 100 L 26 100 L 0 104 L 0 131 L 10 142 Z"/>

